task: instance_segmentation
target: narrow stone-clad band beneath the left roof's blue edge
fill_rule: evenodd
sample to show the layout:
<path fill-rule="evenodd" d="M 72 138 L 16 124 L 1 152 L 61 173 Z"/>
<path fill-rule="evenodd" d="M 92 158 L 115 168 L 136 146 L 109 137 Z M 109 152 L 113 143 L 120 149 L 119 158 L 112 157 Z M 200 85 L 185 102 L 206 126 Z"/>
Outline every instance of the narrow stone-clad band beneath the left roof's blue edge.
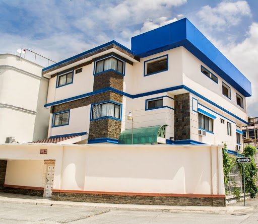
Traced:
<path fill-rule="evenodd" d="M 95 54 L 104 52 L 104 51 L 109 50 L 109 49 L 112 49 L 112 48 L 114 48 L 114 49 L 116 49 L 116 50 L 119 50 L 120 52 L 126 54 L 127 56 L 130 56 L 131 58 L 134 58 L 135 60 L 140 61 L 140 57 L 139 57 L 139 56 L 133 55 L 132 53 L 130 53 L 130 52 L 124 50 L 123 48 L 121 48 L 121 47 L 119 47 L 119 46 L 117 46 L 117 45 L 115 45 L 115 44 L 110 44 L 110 45 L 108 45 L 108 46 L 106 46 L 106 47 L 100 48 L 100 49 L 95 50 L 95 51 L 92 51 L 92 52 L 90 52 L 90 53 L 88 53 L 88 54 L 84 54 L 84 55 L 82 55 L 82 56 L 80 56 L 80 57 L 74 58 L 74 59 L 69 60 L 69 61 L 67 61 L 67 62 L 64 62 L 64 63 L 62 63 L 62 64 L 59 64 L 59 65 L 57 65 L 57 66 L 51 67 L 51 68 L 49 68 L 49 69 L 47 69 L 47 70 L 44 70 L 44 71 L 42 71 L 42 74 L 44 75 L 44 74 L 46 74 L 46 73 L 48 73 L 48 72 L 50 72 L 50 71 L 53 71 L 53 70 L 62 68 L 62 67 L 64 67 L 64 66 L 67 66 L 67 65 L 69 65 L 69 64 L 75 63 L 75 62 L 80 61 L 80 60 L 83 60 L 83 59 L 85 59 L 85 58 L 94 56 Z M 71 68 L 70 68 L 70 69 L 71 69 Z"/>

